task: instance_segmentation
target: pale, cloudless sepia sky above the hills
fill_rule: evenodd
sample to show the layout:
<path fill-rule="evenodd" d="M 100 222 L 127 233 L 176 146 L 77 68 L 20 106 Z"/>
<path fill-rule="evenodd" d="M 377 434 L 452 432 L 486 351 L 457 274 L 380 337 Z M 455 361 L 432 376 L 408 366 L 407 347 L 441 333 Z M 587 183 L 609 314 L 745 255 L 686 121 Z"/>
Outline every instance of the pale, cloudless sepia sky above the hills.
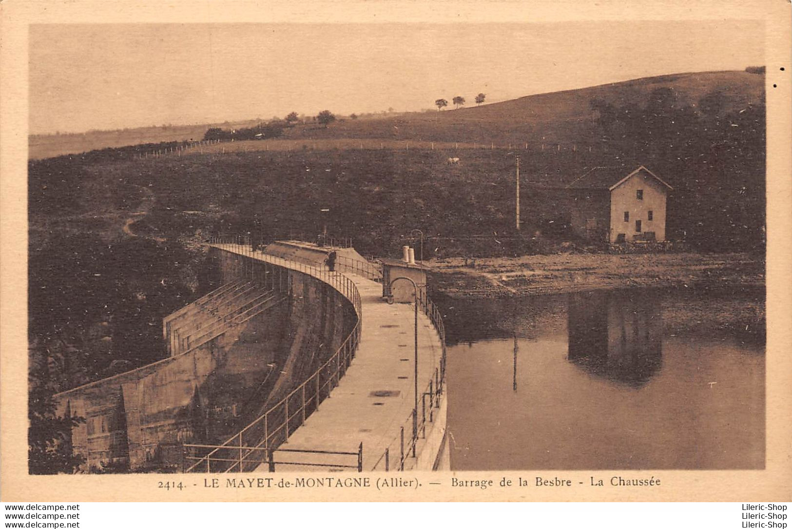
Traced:
<path fill-rule="evenodd" d="M 433 108 L 763 64 L 760 21 L 31 25 L 31 134 Z"/>

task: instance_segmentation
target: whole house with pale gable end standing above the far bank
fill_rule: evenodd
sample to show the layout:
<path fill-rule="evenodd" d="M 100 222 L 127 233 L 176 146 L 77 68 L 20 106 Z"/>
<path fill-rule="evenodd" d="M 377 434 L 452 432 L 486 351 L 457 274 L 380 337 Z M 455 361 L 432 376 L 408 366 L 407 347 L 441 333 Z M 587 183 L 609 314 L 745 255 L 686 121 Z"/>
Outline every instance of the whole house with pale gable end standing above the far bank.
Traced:
<path fill-rule="evenodd" d="M 644 166 L 595 167 L 567 189 L 577 235 L 607 242 L 665 240 L 672 187 Z"/>

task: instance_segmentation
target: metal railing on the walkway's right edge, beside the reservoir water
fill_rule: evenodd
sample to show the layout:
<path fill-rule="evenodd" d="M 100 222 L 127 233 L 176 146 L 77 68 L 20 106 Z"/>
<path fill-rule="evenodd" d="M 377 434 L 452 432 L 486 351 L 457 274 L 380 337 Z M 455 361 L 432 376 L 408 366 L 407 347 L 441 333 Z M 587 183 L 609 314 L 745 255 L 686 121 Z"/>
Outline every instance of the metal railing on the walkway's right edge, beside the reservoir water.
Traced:
<path fill-rule="evenodd" d="M 426 438 L 427 424 L 434 423 L 436 409 L 440 408 L 440 398 L 445 389 L 445 367 L 446 367 L 446 344 L 445 344 L 445 325 L 440 310 L 428 298 L 426 292 L 418 291 L 418 306 L 437 331 L 440 337 L 441 354 L 440 363 L 429 377 L 425 390 L 421 392 L 421 409 L 414 409 L 409 417 L 402 423 L 399 434 L 395 436 L 385 447 L 382 455 L 371 467 L 371 470 L 404 470 L 405 462 L 410 457 L 416 457 L 417 443 Z M 409 432 L 409 438 L 405 440 L 405 428 Z M 397 459 L 391 462 L 392 457 Z M 394 464 L 395 463 L 395 464 Z"/>

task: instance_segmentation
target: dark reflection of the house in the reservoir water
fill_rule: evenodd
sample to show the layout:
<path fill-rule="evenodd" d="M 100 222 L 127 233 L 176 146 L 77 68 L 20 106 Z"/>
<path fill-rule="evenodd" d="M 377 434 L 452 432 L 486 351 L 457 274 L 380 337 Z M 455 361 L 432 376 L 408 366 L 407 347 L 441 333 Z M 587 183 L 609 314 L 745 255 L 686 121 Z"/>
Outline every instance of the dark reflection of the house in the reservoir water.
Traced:
<path fill-rule="evenodd" d="M 658 303 L 645 291 L 569 295 L 569 360 L 607 379 L 642 386 L 662 362 Z"/>

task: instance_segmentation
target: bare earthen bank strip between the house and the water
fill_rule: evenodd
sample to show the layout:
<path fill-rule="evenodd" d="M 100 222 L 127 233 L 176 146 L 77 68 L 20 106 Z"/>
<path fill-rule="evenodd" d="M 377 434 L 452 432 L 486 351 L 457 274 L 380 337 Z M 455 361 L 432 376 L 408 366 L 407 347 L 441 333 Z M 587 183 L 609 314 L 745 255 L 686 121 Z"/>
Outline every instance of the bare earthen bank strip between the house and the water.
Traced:
<path fill-rule="evenodd" d="M 432 264 L 432 283 L 452 296 L 534 295 L 614 287 L 763 284 L 764 262 L 745 253 L 580 254 L 463 259 Z"/>

